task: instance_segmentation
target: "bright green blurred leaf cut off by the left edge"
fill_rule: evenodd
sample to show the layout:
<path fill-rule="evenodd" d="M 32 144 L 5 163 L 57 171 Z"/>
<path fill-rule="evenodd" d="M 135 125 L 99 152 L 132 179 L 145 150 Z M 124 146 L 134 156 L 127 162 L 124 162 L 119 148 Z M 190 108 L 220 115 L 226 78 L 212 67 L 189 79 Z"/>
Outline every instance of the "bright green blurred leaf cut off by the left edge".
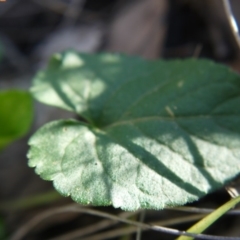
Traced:
<path fill-rule="evenodd" d="M 32 105 L 26 91 L 0 91 L 0 150 L 27 133 L 33 118 Z"/>

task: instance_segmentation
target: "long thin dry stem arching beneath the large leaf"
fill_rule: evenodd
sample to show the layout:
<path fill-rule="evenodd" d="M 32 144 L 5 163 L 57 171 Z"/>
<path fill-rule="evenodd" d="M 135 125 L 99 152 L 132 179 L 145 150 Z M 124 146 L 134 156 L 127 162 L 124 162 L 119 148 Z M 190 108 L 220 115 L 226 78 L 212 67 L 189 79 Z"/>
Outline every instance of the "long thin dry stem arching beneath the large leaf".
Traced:
<path fill-rule="evenodd" d="M 109 213 L 104 213 L 101 211 L 93 210 L 93 209 L 88 209 L 88 208 L 83 208 L 79 207 L 78 204 L 72 204 L 66 207 L 61 207 L 57 209 L 53 209 L 47 212 L 44 212 L 35 218 L 31 219 L 29 222 L 27 222 L 25 225 L 23 225 L 11 238 L 10 240 L 21 240 L 23 237 L 30 232 L 36 225 L 38 225 L 40 222 L 45 220 L 46 218 L 54 215 L 54 214 L 60 214 L 60 213 L 65 213 L 65 212 L 79 212 L 79 213 L 86 213 L 94 216 L 99 216 L 99 217 L 104 217 L 108 219 L 112 219 L 115 221 L 123 222 L 126 224 L 130 224 L 136 227 L 141 227 L 144 229 L 149 229 L 149 230 L 154 230 L 158 232 L 163 232 L 167 234 L 172 234 L 175 236 L 189 236 L 189 237 L 195 237 L 196 239 L 207 239 L 207 240 L 226 240 L 225 237 L 222 236 L 212 236 L 212 235 L 206 235 L 206 234 L 194 234 L 194 233 L 189 233 L 186 231 L 179 231 L 173 228 L 167 228 L 167 227 L 161 227 L 161 226 L 156 226 L 156 225 L 150 225 L 146 223 L 139 223 L 136 221 L 131 221 L 128 219 L 123 219 L 118 216 L 115 216 L 113 214 Z M 240 237 L 227 237 L 228 240 L 240 240 Z"/>

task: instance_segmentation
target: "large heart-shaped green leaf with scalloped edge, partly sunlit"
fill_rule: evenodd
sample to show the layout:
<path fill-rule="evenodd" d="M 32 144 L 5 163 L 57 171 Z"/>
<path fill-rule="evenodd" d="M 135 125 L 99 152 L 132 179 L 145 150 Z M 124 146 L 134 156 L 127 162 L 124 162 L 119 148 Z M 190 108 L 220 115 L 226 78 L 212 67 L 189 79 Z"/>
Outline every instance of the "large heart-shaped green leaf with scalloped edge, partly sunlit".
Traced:
<path fill-rule="evenodd" d="M 32 92 L 87 120 L 48 123 L 29 142 L 29 165 L 79 203 L 161 209 L 239 173 L 240 77 L 224 66 L 65 52 Z"/>

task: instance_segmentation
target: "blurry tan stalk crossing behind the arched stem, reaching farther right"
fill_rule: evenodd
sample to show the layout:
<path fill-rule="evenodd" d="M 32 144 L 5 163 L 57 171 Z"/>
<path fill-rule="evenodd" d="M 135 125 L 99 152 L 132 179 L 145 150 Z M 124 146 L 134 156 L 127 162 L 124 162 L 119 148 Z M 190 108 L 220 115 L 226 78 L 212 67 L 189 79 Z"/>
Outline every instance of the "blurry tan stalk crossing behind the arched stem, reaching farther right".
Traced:
<path fill-rule="evenodd" d="M 174 225 L 174 224 L 179 224 L 179 223 L 187 223 L 195 220 L 201 219 L 203 214 L 196 214 L 192 216 L 187 216 L 187 217 L 179 217 L 179 218 L 173 218 L 169 220 L 164 220 L 164 221 L 157 221 L 157 222 L 152 222 L 152 225 L 161 225 L 161 226 L 169 226 L 169 225 Z M 81 238 L 81 240 L 101 240 L 101 239 L 108 239 L 108 238 L 114 238 L 114 237 L 119 237 L 122 235 L 127 235 L 131 233 L 135 233 L 137 231 L 137 227 L 125 227 L 125 228 L 118 228 L 115 230 L 107 231 L 104 233 L 99 233 L 95 235 L 91 235 L 85 238 Z M 148 229 L 142 229 L 142 231 L 147 231 Z M 53 239 L 51 239 L 53 240 Z M 60 239 L 56 239 L 60 240 Z M 64 239 L 64 240 L 71 240 L 71 239 Z M 72 239 L 73 240 L 73 239 Z"/>

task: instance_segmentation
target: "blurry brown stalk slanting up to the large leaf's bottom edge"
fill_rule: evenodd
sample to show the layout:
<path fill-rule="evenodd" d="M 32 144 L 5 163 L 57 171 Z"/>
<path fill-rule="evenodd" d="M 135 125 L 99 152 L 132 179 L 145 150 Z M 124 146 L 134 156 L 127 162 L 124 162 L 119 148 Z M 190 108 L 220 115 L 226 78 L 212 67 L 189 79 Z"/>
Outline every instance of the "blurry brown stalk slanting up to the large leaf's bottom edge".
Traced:
<path fill-rule="evenodd" d="M 122 212 L 120 213 L 118 216 L 120 218 L 129 218 L 135 214 L 137 214 L 138 212 Z M 74 230 L 70 233 L 67 233 L 67 234 L 64 234 L 64 235 L 61 235 L 59 237 L 54 237 L 54 238 L 51 238 L 51 240 L 70 240 L 70 239 L 75 239 L 75 238 L 79 238 L 79 237 L 82 237 L 82 236 L 86 236 L 88 234 L 93 234 L 97 231 L 100 231 L 100 230 L 103 230 L 103 229 L 106 229 L 108 227 L 111 227 L 113 225 L 116 225 L 117 223 L 119 223 L 119 221 L 113 221 L 113 220 L 103 220 L 103 221 L 100 221 L 96 224 L 92 224 L 90 226 L 87 226 L 85 228 L 82 228 L 82 229 L 79 229 L 79 230 Z"/>

